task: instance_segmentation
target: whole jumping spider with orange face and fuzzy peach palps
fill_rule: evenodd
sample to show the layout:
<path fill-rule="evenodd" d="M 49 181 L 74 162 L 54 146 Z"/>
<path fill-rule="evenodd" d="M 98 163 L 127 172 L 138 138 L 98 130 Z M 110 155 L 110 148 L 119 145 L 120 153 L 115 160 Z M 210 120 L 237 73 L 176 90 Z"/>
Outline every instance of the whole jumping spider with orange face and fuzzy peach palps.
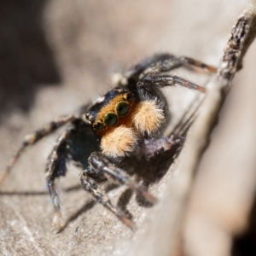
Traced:
<path fill-rule="evenodd" d="M 124 224 L 132 227 L 131 220 L 125 217 L 119 207 L 113 206 L 99 183 L 111 178 L 143 195 L 146 201 L 155 201 L 147 186 L 131 178 L 127 170 L 131 171 L 134 161 L 150 162 L 156 154 L 164 154 L 173 145 L 181 143 L 180 137 L 160 137 L 160 128 L 166 120 L 166 102 L 158 88 L 179 84 L 205 92 L 205 88 L 197 84 L 168 74 L 183 66 L 216 72 L 215 67 L 201 61 L 169 54 L 153 55 L 139 62 L 119 79 L 116 88 L 100 97 L 90 108 L 55 119 L 26 136 L 0 177 L 0 183 L 27 146 L 37 143 L 62 125 L 68 125 L 67 131 L 61 134 L 49 155 L 45 174 L 55 211 L 55 228 L 61 229 L 61 207 L 55 178 L 65 176 L 67 160 L 73 160 L 81 166 L 83 171 L 79 177 L 82 188 Z M 135 173 L 137 171 L 134 170 Z"/>

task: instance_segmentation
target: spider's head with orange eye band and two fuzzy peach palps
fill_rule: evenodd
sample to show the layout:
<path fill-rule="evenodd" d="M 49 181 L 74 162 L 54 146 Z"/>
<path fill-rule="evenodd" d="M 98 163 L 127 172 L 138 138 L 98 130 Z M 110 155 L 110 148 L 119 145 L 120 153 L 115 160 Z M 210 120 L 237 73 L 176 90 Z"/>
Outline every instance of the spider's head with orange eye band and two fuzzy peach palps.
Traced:
<path fill-rule="evenodd" d="M 116 88 L 100 98 L 86 117 L 102 137 L 102 153 L 116 158 L 135 153 L 142 137 L 159 130 L 165 112 L 156 97 L 145 100 L 130 90 Z"/>

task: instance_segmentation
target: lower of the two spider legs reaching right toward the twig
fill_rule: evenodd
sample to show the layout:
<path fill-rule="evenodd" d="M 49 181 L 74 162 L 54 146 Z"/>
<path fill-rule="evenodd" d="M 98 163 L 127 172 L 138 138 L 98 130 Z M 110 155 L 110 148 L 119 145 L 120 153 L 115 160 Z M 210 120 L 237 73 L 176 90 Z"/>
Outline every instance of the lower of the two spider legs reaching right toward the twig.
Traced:
<path fill-rule="evenodd" d="M 137 83 L 137 86 L 139 88 L 144 88 L 145 90 L 150 90 L 149 87 L 151 86 L 158 86 L 158 87 L 165 87 L 165 86 L 173 86 L 175 84 L 179 84 L 183 87 L 198 90 L 201 92 L 206 92 L 206 88 L 194 84 L 190 82 L 189 80 L 182 79 L 177 76 L 172 75 L 155 75 L 155 74 L 148 74 L 141 81 Z"/>

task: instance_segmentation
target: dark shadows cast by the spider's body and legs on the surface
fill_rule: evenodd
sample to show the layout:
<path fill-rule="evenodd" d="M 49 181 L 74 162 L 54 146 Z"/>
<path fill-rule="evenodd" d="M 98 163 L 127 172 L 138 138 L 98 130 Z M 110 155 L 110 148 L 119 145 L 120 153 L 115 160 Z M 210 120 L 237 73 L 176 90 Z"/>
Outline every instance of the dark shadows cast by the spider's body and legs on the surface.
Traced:
<path fill-rule="evenodd" d="M 160 152 L 160 154 L 155 155 L 150 160 L 135 160 L 131 159 L 129 160 L 129 163 L 127 163 L 126 168 L 124 166 L 124 170 L 128 170 L 127 172 L 130 174 L 136 174 L 137 180 L 142 180 L 142 183 L 145 187 L 149 187 L 152 183 L 157 183 L 160 181 L 162 177 L 165 176 L 166 172 L 169 170 L 170 166 L 172 165 L 173 160 L 179 154 L 181 145 L 174 145 L 170 150 Z M 132 167 L 127 167 L 131 166 Z M 119 184 L 108 182 L 105 186 L 105 191 L 108 193 L 109 191 L 116 189 L 119 187 Z M 76 191 L 80 189 L 80 185 L 75 185 L 73 187 L 63 189 L 65 192 L 69 193 L 72 191 Z M 0 195 L 49 195 L 49 192 L 46 191 L 21 191 L 21 192 L 0 192 Z M 119 207 L 123 212 L 125 212 L 126 218 L 132 219 L 133 216 L 131 212 L 127 209 L 127 205 L 131 201 L 131 197 L 133 195 L 133 191 L 131 189 L 126 189 L 125 192 L 123 192 L 119 196 L 119 201 L 117 203 L 117 207 Z M 153 205 L 146 201 L 146 199 L 143 197 L 143 195 L 137 194 L 136 201 L 139 206 L 141 207 L 152 207 Z M 76 218 L 78 218 L 81 214 L 84 212 L 89 211 L 92 207 L 96 205 L 96 201 L 90 200 L 85 202 L 85 204 L 80 207 L 76 212 L 73 212 L 73 214 L 67 218 L 65 221 L 65 224 L 63 225 L 62 229 L 63 231 L 67 228 L 67 225 L 73 222 Z"/>

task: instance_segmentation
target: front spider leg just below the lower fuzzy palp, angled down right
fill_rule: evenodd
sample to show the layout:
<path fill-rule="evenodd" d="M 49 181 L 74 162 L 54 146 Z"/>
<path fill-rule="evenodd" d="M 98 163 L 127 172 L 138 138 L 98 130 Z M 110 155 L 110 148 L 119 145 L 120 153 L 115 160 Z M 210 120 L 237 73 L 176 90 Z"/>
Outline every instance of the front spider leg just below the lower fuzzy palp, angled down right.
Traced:
<path fill-rule="evenodd" d="M 125 184 L 128 188 L 141 193 L 146 200 L 152 203 L 156 201 L 154 196 L 148 192 L 148 189 L 133 180 L 124 170 L 113 166 L 113 164 L 102 153 L 92 153 L 89 158 L 89 164 L 95 172 L 102 172 L 106 177 L 111 177 L 120 184 Z"/>

